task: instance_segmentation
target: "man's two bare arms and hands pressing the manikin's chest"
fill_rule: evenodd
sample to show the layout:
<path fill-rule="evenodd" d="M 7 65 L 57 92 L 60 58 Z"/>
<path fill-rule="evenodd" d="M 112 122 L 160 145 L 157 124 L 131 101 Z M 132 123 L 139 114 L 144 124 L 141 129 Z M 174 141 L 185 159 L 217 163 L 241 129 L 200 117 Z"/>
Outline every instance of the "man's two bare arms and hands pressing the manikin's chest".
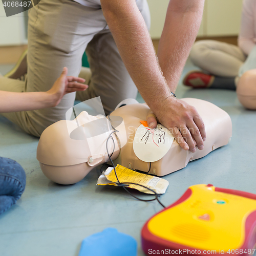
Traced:
<path fill-rule="evenodd" d="M 195 152 L 196 144 L 202 150 L 203 141 L 206 139 L 202 118 L 196 109 L 186 102 L 170 97 L 170 89 L 176 88 L 186 57 L 195 40 L 202 16 L 203 0 L 170 0 L 168 12 L 173 13 L 174 17 L 168 16 L 167 22 L 172 24 L 165 24 L 164 33 L 174 34 L 161 38 L 162 53 L 160 51 L 159 55 L 167 79 L 159 66 L 150 34 L 136 1 L 101 0 L 101 7 L 124 65 L 158 121 L 173 133 L 184 150 Z M 179 22 L 180 25 L 177 24 Z M 197 25 L 191 30 L 192 27 L 188 24 L 195 22 Z M 180 31 L 182 29 L 186 31 Z M 188 33 L 190 35 L 187 35 Z M 168 41 L 169 39 L 172 41 Z M 182 52 L 179 52 L 181 50 Z M 174 65 L 177 66 L 175 69 Z M 150 127 L 156 127 L 156 119 L 151 114 L 147 121 Z"/>

